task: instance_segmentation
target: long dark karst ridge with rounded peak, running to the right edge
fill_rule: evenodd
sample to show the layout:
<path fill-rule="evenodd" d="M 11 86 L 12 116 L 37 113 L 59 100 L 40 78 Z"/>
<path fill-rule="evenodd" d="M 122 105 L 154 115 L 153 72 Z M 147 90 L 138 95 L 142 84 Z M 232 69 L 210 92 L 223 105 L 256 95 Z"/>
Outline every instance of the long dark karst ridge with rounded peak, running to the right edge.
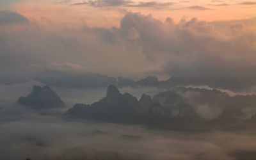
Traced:
<path fill-rule="evenodd" d="M 237 100 L 239 103 L 236 102 Z M 205 122 L 215 123 L 215 125 L 223 125 L 225 122 L 234 120 L 243 122 L 243 108 L 252 107 L 255 104 L 255 95 L 230 97 L 219 90 L 186 87 L 174 88 L 154 95 L 153 98 L 143 94 L 138 100 L 130 93 L 122 94 L 115 85 L 110 85 L 106 97 L 99 102 L 90 105 L 76 104 L 66 114 L 74 118 L 104 122 L 164 125 L 177 128 L 193 127 Z M 220 108 L 222 113 L 214 120 L 204 120 L 197 108 L 202 105 L 209 106 L 210 109 Z"/>

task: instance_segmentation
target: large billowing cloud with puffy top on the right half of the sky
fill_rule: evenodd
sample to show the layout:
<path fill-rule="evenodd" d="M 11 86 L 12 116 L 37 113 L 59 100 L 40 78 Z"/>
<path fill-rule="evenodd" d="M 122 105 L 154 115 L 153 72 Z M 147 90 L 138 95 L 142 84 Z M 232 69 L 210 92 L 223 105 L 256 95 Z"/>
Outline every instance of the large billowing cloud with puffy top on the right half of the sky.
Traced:
<path fill-rule="evenodd" d="M 183 19 L 175 24 L 172 19 L 161 22 L 151 15 L 128 13 L 115 35 L 142 49 L 149 60 L 168 60 L 163 65 L 166 74 L 188 79 L 187 83 L 238 89 L 252 85 L 255 79 L 256 35 L 241 26 L 246 21 Z"/>

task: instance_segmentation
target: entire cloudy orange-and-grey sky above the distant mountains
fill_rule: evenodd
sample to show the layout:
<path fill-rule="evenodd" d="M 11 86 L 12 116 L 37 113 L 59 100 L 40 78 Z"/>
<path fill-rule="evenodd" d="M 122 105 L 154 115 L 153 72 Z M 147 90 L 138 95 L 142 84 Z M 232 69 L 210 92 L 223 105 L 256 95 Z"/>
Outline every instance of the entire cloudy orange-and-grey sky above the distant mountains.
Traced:
<path fill-rule="evenodd" d="M 255 8 L 238 0 L 1 0 L 0 76 L 221 77 L 253 88 Z"/>

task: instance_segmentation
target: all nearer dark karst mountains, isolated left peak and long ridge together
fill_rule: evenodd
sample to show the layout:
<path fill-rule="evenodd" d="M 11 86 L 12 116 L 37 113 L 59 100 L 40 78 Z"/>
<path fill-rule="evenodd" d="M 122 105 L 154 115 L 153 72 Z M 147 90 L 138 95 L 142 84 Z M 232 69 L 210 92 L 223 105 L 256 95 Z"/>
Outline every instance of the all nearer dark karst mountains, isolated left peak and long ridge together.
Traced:
<path fill-rule="evenodd" d="M 33 109 L 63 108 L 64 102 L 49 86 L 34 86 L 26 97 L 17 100 Z M 178 87 L 154 97 L 143 94 L 138 100 L 130 93 L 120 93 L 108 86 L 106 97 L 93 104 L 76 104 L 65 115 L 100 122 L 140 124 L 168 129 L 209 129 L 211 127 L 242 127 L 253 124 L 256 95 L 231 97 L 219 90 Z"/>

